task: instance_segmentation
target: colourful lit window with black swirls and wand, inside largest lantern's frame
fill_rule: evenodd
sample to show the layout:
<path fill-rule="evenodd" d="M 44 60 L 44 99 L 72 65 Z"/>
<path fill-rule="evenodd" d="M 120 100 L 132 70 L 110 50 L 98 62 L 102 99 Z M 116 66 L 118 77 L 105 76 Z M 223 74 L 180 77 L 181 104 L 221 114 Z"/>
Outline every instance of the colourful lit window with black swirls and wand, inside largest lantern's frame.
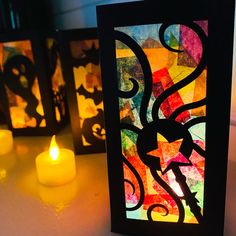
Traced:
<path fill-rule="evenodd" d="M 202 221 L 207 21 L 193 25 L 115 28 L 128 219 Z"/>

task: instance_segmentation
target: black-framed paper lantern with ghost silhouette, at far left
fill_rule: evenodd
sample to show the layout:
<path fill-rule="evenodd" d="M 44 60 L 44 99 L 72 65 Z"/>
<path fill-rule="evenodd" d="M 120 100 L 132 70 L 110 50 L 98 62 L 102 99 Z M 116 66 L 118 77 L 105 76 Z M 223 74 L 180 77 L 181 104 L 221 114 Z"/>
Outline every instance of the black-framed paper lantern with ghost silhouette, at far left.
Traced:
<path fill-rule="evenodd" d="M 40 32 L 1 35 L 5 114 L 14 135 L 49 135 L 66 123 L 65 81 L 55 38 Z"/>

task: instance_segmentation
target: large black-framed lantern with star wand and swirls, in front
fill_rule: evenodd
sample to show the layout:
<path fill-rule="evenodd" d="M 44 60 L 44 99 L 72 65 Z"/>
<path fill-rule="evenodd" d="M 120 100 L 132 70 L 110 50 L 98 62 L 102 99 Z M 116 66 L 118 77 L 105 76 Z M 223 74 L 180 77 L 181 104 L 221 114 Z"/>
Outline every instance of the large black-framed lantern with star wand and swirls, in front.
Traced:
<path fill-rule="evenodd" d="M 112 231 L 223 235 L 234 4 L 153 3 L 97 7 Z"/>

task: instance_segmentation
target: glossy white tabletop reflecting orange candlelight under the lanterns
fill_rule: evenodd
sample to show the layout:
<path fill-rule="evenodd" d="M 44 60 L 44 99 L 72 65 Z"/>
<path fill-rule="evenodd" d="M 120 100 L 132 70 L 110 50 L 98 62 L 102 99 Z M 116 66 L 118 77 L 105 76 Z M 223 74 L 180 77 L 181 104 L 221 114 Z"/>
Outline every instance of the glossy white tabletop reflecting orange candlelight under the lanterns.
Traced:
<path fill-rule="evenodd" d="M 106 154 L 76 157 L 77 176 L 60 187 L 37 182 L 35 158 L 51 137 L 15 137 L 0 156 L 0 236 L 115 236 L 110 232 Z M 73 149 L 69 127 L 57 135 Z M 229 161 L 225 236 L 236 235 L 236 162 Z"/>

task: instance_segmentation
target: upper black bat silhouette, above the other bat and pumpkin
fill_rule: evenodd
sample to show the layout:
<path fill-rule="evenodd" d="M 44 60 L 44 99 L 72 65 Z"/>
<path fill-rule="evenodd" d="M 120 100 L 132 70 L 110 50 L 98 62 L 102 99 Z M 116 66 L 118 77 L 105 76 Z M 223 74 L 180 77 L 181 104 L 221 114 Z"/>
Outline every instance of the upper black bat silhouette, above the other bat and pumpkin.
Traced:
<path fill-rule="evenodd" d="M 72 58 L 74 67 L 86 66 L 88 63 L 99 64 L 99 49 L 95 47 L 94 43 L 90 49 L 83 49 L 83 52 L 84 54 L 81 58 Z"/>

